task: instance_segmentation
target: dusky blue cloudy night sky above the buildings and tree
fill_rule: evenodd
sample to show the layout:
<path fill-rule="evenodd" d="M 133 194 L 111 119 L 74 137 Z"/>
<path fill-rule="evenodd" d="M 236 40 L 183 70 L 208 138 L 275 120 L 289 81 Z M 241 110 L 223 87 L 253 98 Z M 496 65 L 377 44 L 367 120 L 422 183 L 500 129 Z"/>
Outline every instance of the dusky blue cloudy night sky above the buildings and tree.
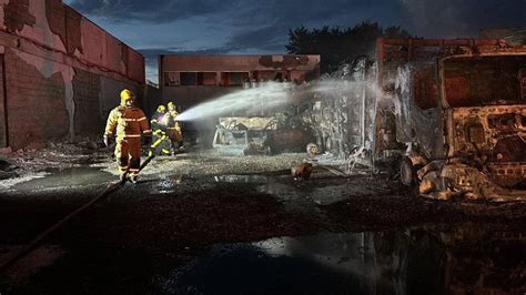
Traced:
<path fill-rule="evenodd" d="M 526 27 L 526 0 L 64 0 L 130 47 L 156 82 L 161 53 L 284 53 L 287 32 L 401 26 L 417 37 L 477 37 L 484 28 Z"/>

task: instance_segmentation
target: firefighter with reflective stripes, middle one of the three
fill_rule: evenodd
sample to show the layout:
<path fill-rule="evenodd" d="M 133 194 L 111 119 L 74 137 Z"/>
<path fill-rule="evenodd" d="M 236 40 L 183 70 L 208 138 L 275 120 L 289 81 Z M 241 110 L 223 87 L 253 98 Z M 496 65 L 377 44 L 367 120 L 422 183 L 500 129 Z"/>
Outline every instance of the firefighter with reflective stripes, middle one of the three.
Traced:
<path fill-rule="evenodd" d="M 166 113 L 166 106 L 159 105 L 158 110 L 150 121 L 153 130 L 153 144 L 150 146 L 151 150 L 149 155 L 152 154 L 165 154 L 170 155 L 171 153 L 171 141 L 166 135 L 168 132 L 168 122 L 170 114 Z"/>

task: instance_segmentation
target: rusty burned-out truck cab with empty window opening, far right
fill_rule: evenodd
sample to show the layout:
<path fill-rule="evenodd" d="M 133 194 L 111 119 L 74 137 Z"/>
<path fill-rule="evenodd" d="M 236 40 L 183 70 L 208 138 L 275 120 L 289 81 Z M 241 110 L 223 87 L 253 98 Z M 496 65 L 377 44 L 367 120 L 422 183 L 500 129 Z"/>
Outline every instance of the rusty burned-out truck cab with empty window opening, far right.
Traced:
<path fill-rule="evenodd" d="M 523 186 L 526 49 L 444 58 L 439 78 L 447 159 L 464 160 L 498 186 Z M 469 185 L 473 173 L 456 174 L 457 185 Z"/>

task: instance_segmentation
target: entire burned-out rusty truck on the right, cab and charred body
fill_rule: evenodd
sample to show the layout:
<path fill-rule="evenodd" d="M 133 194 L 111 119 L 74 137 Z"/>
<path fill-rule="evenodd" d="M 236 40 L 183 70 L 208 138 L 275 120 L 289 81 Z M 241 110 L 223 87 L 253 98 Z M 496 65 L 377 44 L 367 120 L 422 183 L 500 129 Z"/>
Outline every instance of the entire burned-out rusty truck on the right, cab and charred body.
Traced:
<path fill-rule="evenodd" d="M 436 199 L 526 197 L 526 47 L 380 39 L 375 159 Z"/>

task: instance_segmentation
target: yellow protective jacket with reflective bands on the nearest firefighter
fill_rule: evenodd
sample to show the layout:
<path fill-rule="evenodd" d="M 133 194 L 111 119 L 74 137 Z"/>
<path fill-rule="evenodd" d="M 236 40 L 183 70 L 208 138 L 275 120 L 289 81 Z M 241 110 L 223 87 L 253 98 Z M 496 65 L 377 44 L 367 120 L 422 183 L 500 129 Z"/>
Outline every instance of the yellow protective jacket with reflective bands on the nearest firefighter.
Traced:
<path fill-rule="evenodd" d="M 110 112 L 105 124 L 107 135 L 117 135 L 117 140 L 150 136 L 152 131 L 144 112 L 136 106 L 119 105 Z"/>

